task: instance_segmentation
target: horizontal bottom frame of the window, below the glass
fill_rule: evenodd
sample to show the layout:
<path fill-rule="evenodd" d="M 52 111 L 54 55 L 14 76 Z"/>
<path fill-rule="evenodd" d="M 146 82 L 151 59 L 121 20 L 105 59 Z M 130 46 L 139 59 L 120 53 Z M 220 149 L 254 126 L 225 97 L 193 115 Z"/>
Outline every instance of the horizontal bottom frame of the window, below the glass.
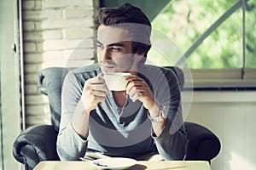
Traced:
<path fill-rule="evenodd" d="M 193 88 L 256 90 L 256 69 L 244 69 L 243 78 L 241 69 L 183 69 L 183 71 L 185 77 L 191 74 Z M 185 88 L 191 87 L 185 85 Z"/>

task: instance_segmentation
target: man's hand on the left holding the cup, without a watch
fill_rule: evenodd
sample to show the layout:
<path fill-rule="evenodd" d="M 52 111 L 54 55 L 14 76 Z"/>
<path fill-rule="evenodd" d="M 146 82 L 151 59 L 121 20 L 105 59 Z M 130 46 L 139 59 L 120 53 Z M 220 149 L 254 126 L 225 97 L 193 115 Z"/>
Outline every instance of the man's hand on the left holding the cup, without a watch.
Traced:
<path fill-rule="evenodd" d="M 96 109 L 98 103 L 106 99 L 108 88 L 104 84 L 102 76 L 103 74 L 100 73 L 97 77 L 90 78 L 84 83 L 81 100 L 87 113 Z"/>

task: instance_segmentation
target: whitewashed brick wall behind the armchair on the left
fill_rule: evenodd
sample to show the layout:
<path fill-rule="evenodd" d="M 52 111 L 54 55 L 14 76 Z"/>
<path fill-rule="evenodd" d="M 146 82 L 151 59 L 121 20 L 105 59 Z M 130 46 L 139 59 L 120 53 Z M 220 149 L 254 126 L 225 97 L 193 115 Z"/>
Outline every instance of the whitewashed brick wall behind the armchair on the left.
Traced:
<path fill-rule="evenodd" d="M 22 1 L 26 127 L 50 123 L 48 99 L 38 91 L 39 71 L 94 62 L 97 7 L 93 0 Z"/>

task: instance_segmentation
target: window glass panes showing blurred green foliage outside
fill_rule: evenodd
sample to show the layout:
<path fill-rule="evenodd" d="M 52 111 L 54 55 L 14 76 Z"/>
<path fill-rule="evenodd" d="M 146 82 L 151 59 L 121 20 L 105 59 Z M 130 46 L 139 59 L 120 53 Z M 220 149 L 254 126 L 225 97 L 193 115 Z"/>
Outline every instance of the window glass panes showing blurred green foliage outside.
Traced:
<path fill-rule="evenodd" d="M 168 37 L 173 42 L 172 46 L 177 45 L 180 53 L 177 53 L 176 49 L 170 52 L 169 43 L 162 44 L 162 48 L 156 48 L 153 42 L 148 59 L 158 65 L 166 65 L 167 54 L 180 58 L 216 20 L 236 6 L 236 10 L 230 14 L 230 17 L 219 21 L 219 26 L 212 26 L 211 34 L 204 38 L 195 50 L 192 49 L 191 54 L 185 56 L 188 57 L 186 65 L 188 64 L 187 66 L 192 69 L 241 68 L 243 65 L 241 4 L 236 0 L 171 1 L 156 16 L 152 26 L 154 31 L 160 31 Z M 253 10 L 255 9 L 253 7 L 252 1 L 247 3 L 246 66 L 249 68 L 256 68 L 256 10 Z M 175 65 L 177 60 L 172 59 L 172 65 Z"/>

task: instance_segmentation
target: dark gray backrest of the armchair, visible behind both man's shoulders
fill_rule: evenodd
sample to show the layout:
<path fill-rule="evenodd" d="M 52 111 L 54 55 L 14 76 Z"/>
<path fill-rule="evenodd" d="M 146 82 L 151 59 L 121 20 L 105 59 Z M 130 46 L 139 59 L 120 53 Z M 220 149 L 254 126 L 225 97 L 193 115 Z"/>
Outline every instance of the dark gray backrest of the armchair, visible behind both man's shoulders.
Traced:
<path fill-rule="evenodd" d="M 172 70 L 176 75 L 183 90 L 184 75 L 183 71 L 175 66 L 166 66 L 166 69 Z M 67 75 L 67 72 L 74 68 L 65 67 L 49 67 L 42 70 L 38 77 L 38 88 L 41 94 L 45 94 L 49 99 L 49 110 L 51 123 L 55 127 L 56 132 L 59 131 L 61 120 L 61 88 L 62 82 Z"/>

